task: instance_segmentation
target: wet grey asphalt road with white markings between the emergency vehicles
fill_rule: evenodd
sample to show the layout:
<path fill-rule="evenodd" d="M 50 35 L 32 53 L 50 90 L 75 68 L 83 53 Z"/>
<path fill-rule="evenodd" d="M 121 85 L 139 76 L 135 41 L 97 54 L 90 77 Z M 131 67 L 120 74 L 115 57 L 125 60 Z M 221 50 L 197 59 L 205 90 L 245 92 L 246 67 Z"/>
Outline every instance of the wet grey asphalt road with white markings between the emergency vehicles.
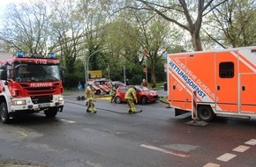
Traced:
<path fill-rule="evenodd" d="M 136 105 L 97 99 L 98 113 L 86 113 L 76 95 L 65 97 L 56 119 L 43 114 L 0 125 L 0 159 L 53 167 L 255 166 L 256 120 L 217 119 L 188 126 L 191 116 L 174 117 L 157 102 Z"/>

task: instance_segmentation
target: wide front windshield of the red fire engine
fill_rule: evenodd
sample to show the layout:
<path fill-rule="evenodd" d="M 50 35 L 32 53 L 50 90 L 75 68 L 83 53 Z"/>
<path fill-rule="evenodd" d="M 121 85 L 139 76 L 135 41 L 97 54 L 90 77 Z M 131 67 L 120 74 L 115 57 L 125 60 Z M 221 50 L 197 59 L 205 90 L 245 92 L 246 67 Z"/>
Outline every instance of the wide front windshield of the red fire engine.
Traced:
<path fill-rule="evenodd" d="M 18 82 L 59 81 L 58 65 L 18 64 L 14 68 L 14 80 Z"/>

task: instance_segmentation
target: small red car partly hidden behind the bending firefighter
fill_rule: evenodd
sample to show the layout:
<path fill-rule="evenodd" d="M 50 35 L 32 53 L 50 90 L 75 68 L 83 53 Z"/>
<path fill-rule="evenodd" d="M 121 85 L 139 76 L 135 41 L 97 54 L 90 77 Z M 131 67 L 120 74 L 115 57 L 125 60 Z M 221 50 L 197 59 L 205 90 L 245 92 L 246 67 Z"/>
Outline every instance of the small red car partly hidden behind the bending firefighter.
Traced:
<path fill-rule="evenodd" d="M 155 102 L 159 99 L 159 96 L 156 91 L 149 90 L 147 87 L 140 86 L 140 85 L 120 85 L 117 88 L 116 96 L 115 96 L 115 102 L 117 104 L 120 104 L 122 102 L 125 102 L 124 95 L 125 92 L 131 88 L 134 87 L 136 89 L 136 95 L 138 102 L 141 104 L 147 104 L 148 102 Z"/>

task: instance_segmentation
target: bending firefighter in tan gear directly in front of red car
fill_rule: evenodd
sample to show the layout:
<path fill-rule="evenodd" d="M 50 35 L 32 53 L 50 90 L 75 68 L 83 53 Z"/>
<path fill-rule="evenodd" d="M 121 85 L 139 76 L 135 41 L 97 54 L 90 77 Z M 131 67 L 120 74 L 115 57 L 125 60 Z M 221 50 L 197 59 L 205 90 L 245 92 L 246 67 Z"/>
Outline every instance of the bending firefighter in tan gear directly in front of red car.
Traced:
<path fill-rule="evenodd" d="M 136 97 L 136 88 L 132 87 L 129 88 L 125 92 L 124 99 L 126 100 L 129 110 L 128 113 L 136 113 L 136 107 L 134 105 L 134 101 L 138 103 L 137 97 Z"/>

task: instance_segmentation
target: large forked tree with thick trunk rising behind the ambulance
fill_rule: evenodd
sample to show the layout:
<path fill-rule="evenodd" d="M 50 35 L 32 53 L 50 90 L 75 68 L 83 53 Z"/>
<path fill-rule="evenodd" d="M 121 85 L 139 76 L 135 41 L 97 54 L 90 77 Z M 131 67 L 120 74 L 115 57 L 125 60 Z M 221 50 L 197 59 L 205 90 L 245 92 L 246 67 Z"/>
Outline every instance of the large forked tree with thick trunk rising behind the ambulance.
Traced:
<path fill-rule="evenodd" d="M 200 39 L 203 17 L 228 0 L 198 0 L 197 3 L 194 1 L 188 1 L 188 3 L 186 3 L 185 0 L 174 0 L 171 2 L 162 1 L 162 3 L 154 3 L 153 0 L 134 1 L 133 9 L 154 11 L 162 16 L 162 18 L 188 31 L 192 38 L 194 50 L 199 51 L 203 49 Z M 137 6 L 138 3 L 142 5 Z"/>

